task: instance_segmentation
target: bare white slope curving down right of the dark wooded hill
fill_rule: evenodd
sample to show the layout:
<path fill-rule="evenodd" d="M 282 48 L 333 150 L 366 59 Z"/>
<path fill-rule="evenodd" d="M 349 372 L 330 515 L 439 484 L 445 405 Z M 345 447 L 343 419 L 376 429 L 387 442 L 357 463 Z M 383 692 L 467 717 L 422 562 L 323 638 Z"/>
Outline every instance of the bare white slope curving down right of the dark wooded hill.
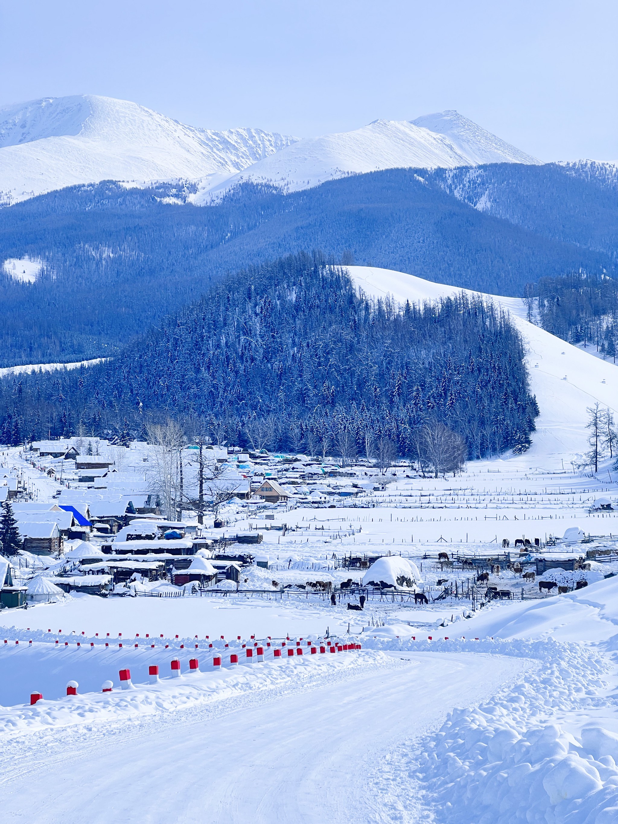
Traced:
<path fill-rule="evenodd" d="M 588 352 L 550 335 L 526 320 L 526 306 L 519 297 L 500 297 L 433 283 L 413 274 L 372 266 L 346 267 L 350 277 L 368 297 L 391 295 L 397 302 L 433 301 L 460 292 L 480 295 L 508 310 L 521 332 L 527 352 L 531 391 L 541 414 L 536 419 L 529 452 L 513 460 L 530 466 L 539 459 L 548 467 L 569 467 L 585 451 L 588 432 L 587 407 L 599 402 L 618 412 L 618 369 L 610 361 L 592 358 Z"/>

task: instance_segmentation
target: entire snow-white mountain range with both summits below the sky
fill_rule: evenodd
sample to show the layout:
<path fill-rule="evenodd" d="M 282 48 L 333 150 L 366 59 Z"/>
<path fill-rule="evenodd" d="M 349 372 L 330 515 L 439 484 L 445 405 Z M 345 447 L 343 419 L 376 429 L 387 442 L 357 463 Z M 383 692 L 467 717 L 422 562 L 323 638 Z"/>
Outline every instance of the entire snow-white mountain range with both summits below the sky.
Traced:
<path fill-rule="evenodd" d="M 96 95 L 0 108 L 4 205 L 101 180 L 189 180 L 194 203 L 204 204 L 244 180 L 293 191 L 368 171 L 496 162 L 540 163 L 456 111 L 299 139 L 261 129 L 198 129 Z"/>

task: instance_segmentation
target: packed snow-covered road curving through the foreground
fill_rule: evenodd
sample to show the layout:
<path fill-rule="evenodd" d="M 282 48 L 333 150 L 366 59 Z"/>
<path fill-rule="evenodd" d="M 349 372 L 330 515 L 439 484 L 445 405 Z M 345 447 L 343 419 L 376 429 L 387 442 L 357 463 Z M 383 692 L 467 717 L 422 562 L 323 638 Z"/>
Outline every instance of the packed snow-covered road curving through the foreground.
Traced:
<path fill-rule="evenodd" d="M 480 654 L 396 653 L 392 667 L 311 693 L 265 692 L 246 705 L 230 702 L 224 713 L 200 708 L 141 728 L 121 724 L 94 743 L 81 737 L 49 747 L 42 737 L 29 747 L 26 739 L 21 758 L 3 770 L 2 821 L 412 822 L 413 798 L 403 799 L 408 812 L 400 817 L 368 790 L 384 756 L 529 666 Z"/>

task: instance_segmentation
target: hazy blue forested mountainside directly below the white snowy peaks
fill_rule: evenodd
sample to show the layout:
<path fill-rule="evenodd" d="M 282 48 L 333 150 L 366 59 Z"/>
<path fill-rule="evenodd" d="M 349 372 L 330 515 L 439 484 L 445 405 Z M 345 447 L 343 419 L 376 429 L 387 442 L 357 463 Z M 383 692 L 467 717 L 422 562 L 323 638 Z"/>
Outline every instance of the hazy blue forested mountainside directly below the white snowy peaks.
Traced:
<path fill-rule="evenodd" d="M 503 175 L 504 197 L 509 186 L 522 190 L 522 180 L 547 169 L 504 166 L 511 183 L 502 166 L 479 169 Z M 552 169 L 552 180 L 568 174 Z M 287 195 L 246 184 L 208 207 L 188 203 L 187 186 L 126 190 L 108 182 L 0 209 L 0 260 L 44 261 L 35 284 L 0 274 L 0 366 L 116 353 L 225 274 L 299 250 L 504 295 L 521 295 L 543 276 L 616 268 L 611 245 L 585 249 L 575 235 L 556 237 L 542 204 L 528 227 L 520 213 L 496 217 L 474 208 L 445 191 L 445 180 L 395 169 Z M 618 209 L 599 204 L 616 199 L 614 190 L 578 185 L 568 202 L 555 190 L 556 221 L 592 210 L 591 225 L 611 238 Z"/>

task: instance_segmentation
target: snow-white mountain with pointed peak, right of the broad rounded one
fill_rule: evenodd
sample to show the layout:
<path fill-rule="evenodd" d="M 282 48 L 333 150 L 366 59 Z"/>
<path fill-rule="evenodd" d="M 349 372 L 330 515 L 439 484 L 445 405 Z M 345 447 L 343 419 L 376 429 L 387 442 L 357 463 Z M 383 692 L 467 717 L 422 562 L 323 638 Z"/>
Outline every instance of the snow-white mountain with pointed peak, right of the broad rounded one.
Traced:
<path fill-rule="evenodd" d="M 352 132 L 299 140 L 226 181 L 204 180 L 195 202 L 208 202 L 213 193 L 241 180 L 274 183 L 293 191 L 380 169 L 499 162 L 540 163 L 456 111 L 425 115 L 412 122 L 375 120 Z"/>

